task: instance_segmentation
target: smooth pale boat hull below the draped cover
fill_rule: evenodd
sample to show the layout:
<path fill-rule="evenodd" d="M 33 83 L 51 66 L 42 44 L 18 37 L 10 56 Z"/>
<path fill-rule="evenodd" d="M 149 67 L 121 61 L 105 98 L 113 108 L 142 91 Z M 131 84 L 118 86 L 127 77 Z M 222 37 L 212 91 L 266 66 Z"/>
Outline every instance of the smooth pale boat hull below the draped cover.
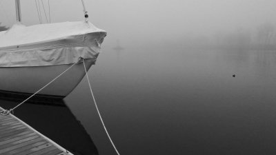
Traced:
<path fill-rule="evenodd" d="M 85 63 L 89 70 L 95 61 L 86 59 Z M 0 68 L 0 90 L 12 94 L 33 94 L 71 65 Z M 38 95 L 63 99 L 74 90 L 85 74 L 83 63 L 77 63 Z"/>

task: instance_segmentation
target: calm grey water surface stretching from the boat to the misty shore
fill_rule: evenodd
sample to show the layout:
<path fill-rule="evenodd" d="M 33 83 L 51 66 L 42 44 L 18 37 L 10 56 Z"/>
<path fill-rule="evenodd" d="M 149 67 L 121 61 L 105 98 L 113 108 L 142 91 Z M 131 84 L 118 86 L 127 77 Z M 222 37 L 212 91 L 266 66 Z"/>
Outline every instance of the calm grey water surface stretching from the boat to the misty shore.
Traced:
<path fill-rule="evenodd" d="M 103 51 L 89 76 L 121 155 L 276 154 L 275 51 Z M 90 137 L 79 124 L 61 126 L 58 131 L 68 130 L 87 141 L 71 138 L 75 145 L 69 145 L 64 143 L 67 137 L 58 138 L 59 143 L 77 152 L 88 149 L 82 154 L 115 154 L 86 79 L 64 102 L 70 110 L 39 105 L 43 107 L 33 113 L 28 107 L 36 105 L 23 105 L 15 115 L 35 124 L 28 110 L 32 118 L 47 117 L 53 110 L 60 122 L 66 122 L 66 113 L 70 121 L 64 124 L 77 119 Z M 42 133 L 48 130 L 39 127 Z"/>

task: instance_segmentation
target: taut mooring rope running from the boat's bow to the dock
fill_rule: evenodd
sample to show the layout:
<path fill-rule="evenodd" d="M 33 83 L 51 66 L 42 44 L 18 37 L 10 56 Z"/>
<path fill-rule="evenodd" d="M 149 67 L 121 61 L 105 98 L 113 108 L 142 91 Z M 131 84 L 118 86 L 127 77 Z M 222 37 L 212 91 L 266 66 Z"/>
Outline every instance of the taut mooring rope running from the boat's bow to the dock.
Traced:
<path fill-rule="evenodd" d="M 70 68 L 72 68 L 74 65 L 76 65 L 81 59 L 79 59 L 77 62 L 75 62 L 74 64 L 72 64 L 69 68 L 67 68 L 66 70 L 64 70 L 63 72 L 61 72 L 61 74 L 59 74 L 58 76 L 56 76 L 54 79 L 52 79 L 52 81 L 50 81 L 49 83 L 47 83 L 46 85 L 44 85 L 43 87 L 41 87 L 39 90 L 37 90 L 37 92 L 35 92 L 34 94 L 32 94 L 31 96 L 29 96 L 26 100 L 24 100 L 23 102 L 19 103 L 17 106 L 13 107 L 10 110 L 2 110 L 0 112 L 0 117 L 1 116 L 7 116 L 8 114 L 10 114 L 10 112 L 13 112 L 17 107 L 19 107 L 20 105 L 22 105 L 23 103 L 25 103 L 26 101 L 28 101 L 30 98 L 32 98 L 32 96 L 34 96 L 35 94 L 39 93 L 41 90 L 43 90 L 45 87 L 47 87 L 48 85 L 50 85 L 52 82 L 54 82 L 55 80 L 57 80 L 59 78 L 59 76 L 61 76 L 62 74 L 64 74 L 65 72 L 67 72 L 68 70 L 70 70 Z"/>

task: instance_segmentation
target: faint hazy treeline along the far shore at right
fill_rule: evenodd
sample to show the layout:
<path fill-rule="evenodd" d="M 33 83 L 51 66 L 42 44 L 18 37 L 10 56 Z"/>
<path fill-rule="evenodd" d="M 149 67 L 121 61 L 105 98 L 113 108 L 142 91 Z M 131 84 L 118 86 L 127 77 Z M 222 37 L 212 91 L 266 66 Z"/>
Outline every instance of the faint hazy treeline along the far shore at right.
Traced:
<path fill-rule="evenodd" d="M 259 25 L 255 30 L 239 28 L 233 32 L 215 32 L 208 37 L 188 35 L 181 40 L 188 48 L 276 50 L 275 26 L 271 23 Z"/>

